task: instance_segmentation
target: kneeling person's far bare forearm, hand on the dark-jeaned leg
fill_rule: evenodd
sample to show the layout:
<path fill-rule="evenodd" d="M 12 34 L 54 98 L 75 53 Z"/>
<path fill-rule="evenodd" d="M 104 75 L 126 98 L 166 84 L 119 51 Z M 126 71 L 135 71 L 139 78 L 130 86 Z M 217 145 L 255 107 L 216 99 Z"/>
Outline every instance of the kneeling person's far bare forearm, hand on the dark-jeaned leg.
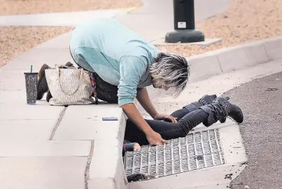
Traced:
<path fill-rule="evenodd" d="M 145 109 L 153 119 L 155 120 L 167 119 L 171 123 L 177 122 L 176 118 L 174 118 L 173 116 L 157 113 L 157 110 L 153 106 L 153 103 L 150 100 L 150 97 L 149 97 L 149 94 L 146 88 L 140 88 L 139 90 L 137 90 L 136 99 L 141 104 L 143 109 Z"/>

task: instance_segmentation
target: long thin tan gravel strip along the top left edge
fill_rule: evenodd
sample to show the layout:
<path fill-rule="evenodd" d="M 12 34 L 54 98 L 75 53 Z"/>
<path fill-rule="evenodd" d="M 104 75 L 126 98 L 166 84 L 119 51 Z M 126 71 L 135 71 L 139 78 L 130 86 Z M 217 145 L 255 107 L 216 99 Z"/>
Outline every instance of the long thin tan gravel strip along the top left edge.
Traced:
<path fill-rule="evenodd" d="M 0 15 L 20 15 L 130 8 L 142 3 L 141 0 L 0 0 L 0 5 Z"/>

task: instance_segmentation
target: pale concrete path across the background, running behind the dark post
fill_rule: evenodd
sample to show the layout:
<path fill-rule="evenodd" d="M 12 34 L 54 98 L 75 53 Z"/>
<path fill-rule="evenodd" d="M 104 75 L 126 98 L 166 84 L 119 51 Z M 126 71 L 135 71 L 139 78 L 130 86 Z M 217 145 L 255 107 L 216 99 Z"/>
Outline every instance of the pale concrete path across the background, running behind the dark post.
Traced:
<path fill-rule="evenodd" d="M 195 21 L 222 13 L 230 3 L 231 0 L 195 1 Z M 106 17 L 115 18 L 148 41 L 163 38 L 174 29 L 173 1 L 143 0 L 143 4 L 141 8 L 0 16 L 0 26 L 76 26 L 84 20 Z"/>

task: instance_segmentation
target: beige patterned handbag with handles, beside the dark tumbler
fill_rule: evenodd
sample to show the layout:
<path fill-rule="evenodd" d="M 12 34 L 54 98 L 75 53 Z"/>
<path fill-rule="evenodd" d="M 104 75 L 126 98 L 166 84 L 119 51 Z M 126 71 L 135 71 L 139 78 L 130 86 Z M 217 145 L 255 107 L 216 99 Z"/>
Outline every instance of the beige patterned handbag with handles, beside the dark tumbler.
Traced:
<path fill-rule="evenodd" d="M 75 67 L 55 66 L 45 69 L 46 80 L 53 106 L 94 104 L 90 76 L 87 71 Z"/>

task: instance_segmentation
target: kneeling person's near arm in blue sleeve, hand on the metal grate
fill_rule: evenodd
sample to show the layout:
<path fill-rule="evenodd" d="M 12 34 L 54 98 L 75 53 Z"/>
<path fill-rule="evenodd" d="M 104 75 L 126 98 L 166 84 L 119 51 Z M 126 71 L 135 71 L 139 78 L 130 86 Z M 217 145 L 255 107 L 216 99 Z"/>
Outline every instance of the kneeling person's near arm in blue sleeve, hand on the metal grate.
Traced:
<path fill-rule="evenodd" d="M 120 59 L 120 84 L 118 85 L 118 104 L 125 111 L 127 117 L 146 134 L 150 144 L 160 145 L 167 143 L 160 134 L 153 131 L 143 119 L 134 105 L 137 85 L 147 69 L 146 62 L 139 57 L 122 57 Z"/>

